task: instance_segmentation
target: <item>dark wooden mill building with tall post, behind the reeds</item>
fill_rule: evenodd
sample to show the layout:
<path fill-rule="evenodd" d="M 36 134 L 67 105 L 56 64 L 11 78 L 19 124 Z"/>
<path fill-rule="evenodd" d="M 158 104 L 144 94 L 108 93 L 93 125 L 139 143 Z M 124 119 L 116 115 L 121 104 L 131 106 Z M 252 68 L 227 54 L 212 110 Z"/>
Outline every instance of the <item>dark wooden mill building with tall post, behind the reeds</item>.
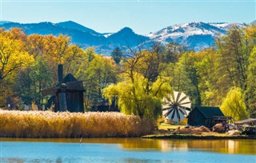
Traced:
<path fill-rule="evenodd" d="M 54 111 L 84 112 L 82 81 L 78 81 L 72 74 L 63 77 L 63 67 L 58 65 L 58 84 L 42 90 L 42 95 L 52 95 L 49 102 L 54 105 Z M 49 105 L 49 104 L 48 104 Z"/>

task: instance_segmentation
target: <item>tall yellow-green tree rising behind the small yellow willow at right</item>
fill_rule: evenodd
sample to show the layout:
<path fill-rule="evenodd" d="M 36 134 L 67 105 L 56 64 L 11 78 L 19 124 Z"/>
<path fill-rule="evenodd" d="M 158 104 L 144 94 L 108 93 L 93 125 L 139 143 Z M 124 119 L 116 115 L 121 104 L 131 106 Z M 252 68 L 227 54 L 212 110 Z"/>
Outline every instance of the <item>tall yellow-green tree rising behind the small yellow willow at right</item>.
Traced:
<path fill-rule="evenodd" d="M 246 68 L 248 67 L 248 54 L 246 54 L 246 41 L 244 33 L 237 26 L 232 26 L 227 35 L 217 38 L 219 53 L 219 67 L 221 76 L 229 81 L 228 87 L 236 86 L 246 90 Z M 225 74 L 224 74 L 225 73 Z"/>

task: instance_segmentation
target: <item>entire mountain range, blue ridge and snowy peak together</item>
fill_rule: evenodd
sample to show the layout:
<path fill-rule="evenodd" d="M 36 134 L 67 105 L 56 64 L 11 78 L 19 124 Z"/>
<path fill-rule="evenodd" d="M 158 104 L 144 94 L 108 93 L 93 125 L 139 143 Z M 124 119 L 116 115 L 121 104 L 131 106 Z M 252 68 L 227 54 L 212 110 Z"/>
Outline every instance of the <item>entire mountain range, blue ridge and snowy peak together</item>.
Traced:
<path fill-rule="evenodd" d="M 189 22 L 174 26 L 167 26 L 154 33 L 140 35 L 135 34 L 132 29 L 125 27 L 116 33 L 102 34 L 77 22 L 39 22 L 39 23 L 18 23 L 18 22 L 0 22 L 0 28 L 9 30 L 12 27 L 22 28 L 30 34 L 66 34 L 71 37 L 71 42 L 78 44 L 83 48 L 93 46 L 98 54 L 110 55 L 116 47 L 126 49 L 128 46 L 150 47 L 153 42 L 178 42 L 180 45 L 188 47 L 190 50 L 201 50 L 214 45 L 214 37 L 217 34 L 226 34 L 230 26 L 244 27 L 241 23 L 205 23 Z"/>

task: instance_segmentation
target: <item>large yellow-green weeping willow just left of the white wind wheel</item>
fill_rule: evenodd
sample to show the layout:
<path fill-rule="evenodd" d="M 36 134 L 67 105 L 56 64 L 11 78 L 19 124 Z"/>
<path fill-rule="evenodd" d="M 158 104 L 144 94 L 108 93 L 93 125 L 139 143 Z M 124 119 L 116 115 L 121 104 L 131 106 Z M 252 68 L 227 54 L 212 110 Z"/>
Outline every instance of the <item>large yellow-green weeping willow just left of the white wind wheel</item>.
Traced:
<path fill-rule="evenodd" d="M 147 79 L 136 73 L 134 81 L 124 77 L 124 81 L 103 89 L 103 97 L 109 101 L 115 98 L 122 113 L 156 119 L 162 113 L 161 99 L 170 91 L 170 86 L 166 78 L 158 78 L 150 85 L 150 93 L 146 93 L 146 83 Z"/>

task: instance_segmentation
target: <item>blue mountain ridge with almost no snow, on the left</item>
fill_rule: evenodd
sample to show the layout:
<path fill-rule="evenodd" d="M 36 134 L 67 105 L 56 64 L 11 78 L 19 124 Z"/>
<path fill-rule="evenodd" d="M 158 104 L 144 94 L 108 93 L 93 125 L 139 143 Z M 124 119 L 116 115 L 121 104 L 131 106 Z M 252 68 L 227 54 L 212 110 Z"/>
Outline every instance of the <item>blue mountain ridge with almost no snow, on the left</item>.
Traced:
<path fill-rule="evenodd" d="M 98 54 L 110 55 L 111 51 L 118 46 L 138 46 L 139 41 L 146 41 L 147 37 L 135 34 L 133 30 L 126 27 L 113 34 L 101 34 L 82 26 L 76 22 L 39 22 L 39 23 L 18 23 L 18 22 L 0 22 L 0 28 L 6 30 L 18 27 L 30 34 L 53 34 L 58 36 L 65 34 L 71 38 L 71 42 L 79 44 L 83 48 L 93 46 Z"/>

